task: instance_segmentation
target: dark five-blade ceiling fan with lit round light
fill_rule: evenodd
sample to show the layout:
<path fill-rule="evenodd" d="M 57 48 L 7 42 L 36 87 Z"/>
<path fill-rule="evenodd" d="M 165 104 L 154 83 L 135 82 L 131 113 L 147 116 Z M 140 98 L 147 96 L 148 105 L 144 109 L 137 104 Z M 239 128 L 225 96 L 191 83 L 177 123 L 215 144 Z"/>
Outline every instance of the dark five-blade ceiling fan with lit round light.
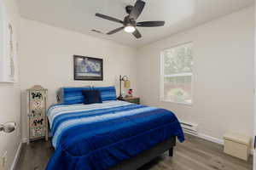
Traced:
<path fill-rule="evenodd" d="M 122 24 L 123 26 L 113 30 L 109 31 L 107 34 L 112 35 L 118 31 L 125 30 L 126 32 L 132 33 L 134 37 L 141 38 L 141 33 L 137 30 L 137 26 L 140 27 L 155 27 L 155 26 L 164 26 L 165 21 L 144 21 L 144 22 L 137 22 L 137 18 L 142 14 L 143 8 L 145 6 L 145 2 L 142 0 L 137 0 L 134 6 L 128 5 L 125 7 L 126 13 L 128 14 L 125 16 L 124 20 L 115 19 L 111 16 L 105 15 L 105 14 L 98 14 L 96 13 L 97 17 L 100 17 L 105 20 L 111 20 L 113 22 L 118 22 L 119 24 Z"/>

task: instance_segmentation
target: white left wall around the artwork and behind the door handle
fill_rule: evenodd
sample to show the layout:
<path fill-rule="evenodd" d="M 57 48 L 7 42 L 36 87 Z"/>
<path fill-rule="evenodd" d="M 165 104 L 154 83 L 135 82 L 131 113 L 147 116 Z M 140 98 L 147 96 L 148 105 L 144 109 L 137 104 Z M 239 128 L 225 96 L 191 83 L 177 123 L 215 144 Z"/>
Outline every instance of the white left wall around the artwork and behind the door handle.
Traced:
<path fill-rule="evenodd" d="M 3 0 L 3 3 L 14 25 L 14 30 L 18 33 L 20 17 L 15 0 Z M 0 156 L 7 151 L 6 169 L 11 167 L 20 144 L 20 83 L 0 83 L 0 124 L 10 121 L 17 122 L 16 131 L 9 134 L 0 133 Z"/>

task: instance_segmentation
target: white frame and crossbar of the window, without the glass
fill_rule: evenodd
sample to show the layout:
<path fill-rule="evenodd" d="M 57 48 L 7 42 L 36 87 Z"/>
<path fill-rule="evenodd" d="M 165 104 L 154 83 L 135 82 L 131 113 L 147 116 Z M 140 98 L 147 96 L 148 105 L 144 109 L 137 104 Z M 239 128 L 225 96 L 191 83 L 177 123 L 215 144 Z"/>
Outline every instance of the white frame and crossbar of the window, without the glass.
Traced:
<path fill-rule="evenodd" d="M 177 48 L 179 46 L 183 46 L 186 44 L 192 43 L 192 47 L 194 47 L 194 42 L 190 41 L 190 42 L 183 42 L 183 43 L 179 43 L 177 45 L 171 46 L 169 48 L 163 48 L 160 50 L 160 101 L 161 102 L 166 102 L 166 103 L 172 103 L 172 104 L 177 104 L 177 105 L 189 105 L 192 106 L 194 103 L 194 98 L 193 98 L 193 92 L 194 92 L 194 88 L 193 88 L 193 82 L 194 82 L 194 48 L 192 48 L 192 55 L 193 55 L 193 67 L 192 67 L 192 73 L 178 73 L 178 74 L 173 74 L 173 75 L 168 75 L 167 77 L 178 77 L 178 76 L 191 76 L 191 103 L 187 103 L 187 102 L 177 102 L 177 101 L 172 101 L 172 100 L 168 100 L 165 99 L 165 94 L 164 94 L 164 86 L 165 86 L 165 67 L 164 67 L 164 53 L 166 50 L 171 49 L 171 48 Z"/>

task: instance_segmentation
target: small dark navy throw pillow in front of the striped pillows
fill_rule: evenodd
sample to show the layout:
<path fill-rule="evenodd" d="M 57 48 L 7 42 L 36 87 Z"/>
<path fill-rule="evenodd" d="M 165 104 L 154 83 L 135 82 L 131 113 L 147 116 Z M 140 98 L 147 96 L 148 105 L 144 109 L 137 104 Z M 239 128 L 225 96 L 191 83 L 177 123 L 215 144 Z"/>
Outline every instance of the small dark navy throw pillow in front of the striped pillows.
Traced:
<path fill-rule="evenodd" d="M 84 105 L 102 103 L 102 96 L 99 90 L 83 90 Z"/>

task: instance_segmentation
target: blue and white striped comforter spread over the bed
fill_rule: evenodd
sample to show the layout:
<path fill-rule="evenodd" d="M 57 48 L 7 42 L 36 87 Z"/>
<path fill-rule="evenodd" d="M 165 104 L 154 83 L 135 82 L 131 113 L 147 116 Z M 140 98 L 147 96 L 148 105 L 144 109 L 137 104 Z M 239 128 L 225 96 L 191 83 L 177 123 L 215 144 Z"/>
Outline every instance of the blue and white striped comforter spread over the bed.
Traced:
<path fill-rule="evenodd" d="M 53 105 L 47 113 L 55 154 L 47 169 L 108 169 L 172 136 L 183 142 L 171 112 L 124 101 Z"/>

